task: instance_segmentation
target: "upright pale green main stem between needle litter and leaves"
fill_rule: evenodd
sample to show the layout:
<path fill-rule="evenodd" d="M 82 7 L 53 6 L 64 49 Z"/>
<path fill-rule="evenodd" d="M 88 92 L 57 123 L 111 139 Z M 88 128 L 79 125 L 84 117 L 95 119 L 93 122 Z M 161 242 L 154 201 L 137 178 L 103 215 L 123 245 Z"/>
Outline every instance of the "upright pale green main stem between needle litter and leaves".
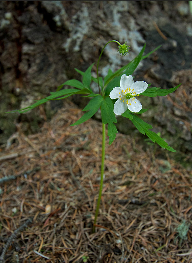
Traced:
<path fill-rule="evenodd" d="M 101 196 L 102 196 L 102 189 L 103 189 L 103 174 L 104 174 L 104 161 L 105 161 L 105 124 L 103 123 L 103 131 L 102 131 L 102 160 L 101 160 L 101 180 L 100 180 L 100 189 L 99 189 L 99 196 L 97 200 L 97 208 L 95 211 L 95 220 L 94 224 L 96 224 L 97 216 L 99 212 L 99 206 L 101 202 Z M 95 226 L 93 226 L 93 233 L 95 233 Z"/>

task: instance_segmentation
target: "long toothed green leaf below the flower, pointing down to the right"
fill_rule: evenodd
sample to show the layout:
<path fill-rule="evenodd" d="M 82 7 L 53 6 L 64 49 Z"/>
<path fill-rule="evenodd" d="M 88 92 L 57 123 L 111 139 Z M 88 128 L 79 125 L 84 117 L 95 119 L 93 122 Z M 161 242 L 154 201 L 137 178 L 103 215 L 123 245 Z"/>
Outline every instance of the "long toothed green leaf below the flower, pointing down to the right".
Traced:
<path fill-rule="evenodd" d="M 129 114 L 133 116 L 132 119 L 129 118 Z M 153 128 L 150 124 L 144 122 L 133 113 L 124 112 L 122 116 L 129 118 L 132 121 L 132 123 L 135 125 L 135 127 L 138 129 L 138 131 L 144 135 L 146 134 L 153 143 L 155 142 L 158 143 L 159 146 L 161 146 L 163 149 L 167 149 L 170 152 L 176 152 L 176 150 L 170 147 L 158 134 L 149 130 Z"/>

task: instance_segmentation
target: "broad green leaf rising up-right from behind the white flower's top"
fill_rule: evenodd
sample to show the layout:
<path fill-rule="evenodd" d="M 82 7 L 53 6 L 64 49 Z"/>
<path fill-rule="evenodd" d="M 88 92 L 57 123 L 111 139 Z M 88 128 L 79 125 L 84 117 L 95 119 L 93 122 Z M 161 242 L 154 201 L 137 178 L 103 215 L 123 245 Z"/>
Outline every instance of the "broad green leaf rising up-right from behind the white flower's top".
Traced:
<path fill-rule="evenodd" d="M 105 95 L 108 96 L 113 88 L 120 87 L 120 79 L 123 74 L 132 75 L 136 67 L 138 66 L 139 62 L 141 61 L 141 57 L 143 55 L 143 52 L 145 50 L 146 44 L 144 44 L 142 50 L 140 51 L 139 55 L 135 57 L 131 62 L 129 62 L 127 65 L 123 66 L 121 69 L 117 70 L 111 77 L 109 77 L 104 84 L 104 87 L 107 85 L 107 88 L 105 90 Z M 126 70 L 122 73 L 123 70 Z M 118 77 L 117 77 L 118 76 Z M 116 78 L 115 78 L 116 77 Z"/>

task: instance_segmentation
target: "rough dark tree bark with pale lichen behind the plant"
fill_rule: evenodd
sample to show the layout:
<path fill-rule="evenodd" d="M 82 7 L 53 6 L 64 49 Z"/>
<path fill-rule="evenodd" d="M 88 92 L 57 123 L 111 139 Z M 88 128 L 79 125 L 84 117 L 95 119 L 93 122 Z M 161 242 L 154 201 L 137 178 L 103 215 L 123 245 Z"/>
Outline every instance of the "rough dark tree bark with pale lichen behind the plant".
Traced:
<path fill-rule="evenodd" d="M 192 10 L 190 1 L 1 1 L 0 2 L 0 144 L 16 131 L 25 134 L 39 127 L 65 100 L 49 101 L 25 114 L 5 114 L 27 107 L 56 91 L 68 79 L 81 80 L 74 70 L 96 63 L 110 40 L 127 42 L 130 53 L 120 57 L 117 44 L 107 45 L 99 74 L 119 69 L 138 55 L 162 47 L 142 60 L 135 81 L 151 87 L 180 88 L 166 97 L 140 97 L 149 111 L 142 119 L 177 150 L 173 155 L 185 167 L 192 163 Z M 97 88 L 93 84 L 92 88 Z M 87 101 L 70 97 L 80 108 Z M 99 120 L 99 113 L 95 118 Z M 130 121 L 118 118 L 117 129 L 143 143 Z M 147 141 L 147 143 L 149 143 Z M 143 143 L 144 145 L 146 143 Z M 150 146 L 150 145 L 149 145 Z M 144 146 L 145 147 L 145 146 Z M 150 146 L 154 151 L 154 145 Z M 171 153 L 170 153 L 171 154 Z"/>

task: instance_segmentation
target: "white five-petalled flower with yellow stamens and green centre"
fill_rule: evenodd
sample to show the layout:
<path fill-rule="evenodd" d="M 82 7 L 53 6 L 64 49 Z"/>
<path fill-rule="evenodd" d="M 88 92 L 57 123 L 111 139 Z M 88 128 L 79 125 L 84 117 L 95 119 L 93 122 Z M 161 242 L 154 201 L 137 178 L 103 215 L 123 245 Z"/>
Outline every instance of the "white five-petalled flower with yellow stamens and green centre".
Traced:
<path fill-rule="evenodd" d="M 118 98 L 114 104 L 114 113 L 121 115 L 127 108 L 132 112 L 139 112 L 142 109 L 142 105 L 135 97 L 139 96 L 139 93 L 144 92 L 147 87 L 148 84 L 144 81 L 136 81 L 133 83 L 133 77 L 131 75 L 122 75 L 120 87 L 113 88 L 109 95 L 112 100 Z"/>

